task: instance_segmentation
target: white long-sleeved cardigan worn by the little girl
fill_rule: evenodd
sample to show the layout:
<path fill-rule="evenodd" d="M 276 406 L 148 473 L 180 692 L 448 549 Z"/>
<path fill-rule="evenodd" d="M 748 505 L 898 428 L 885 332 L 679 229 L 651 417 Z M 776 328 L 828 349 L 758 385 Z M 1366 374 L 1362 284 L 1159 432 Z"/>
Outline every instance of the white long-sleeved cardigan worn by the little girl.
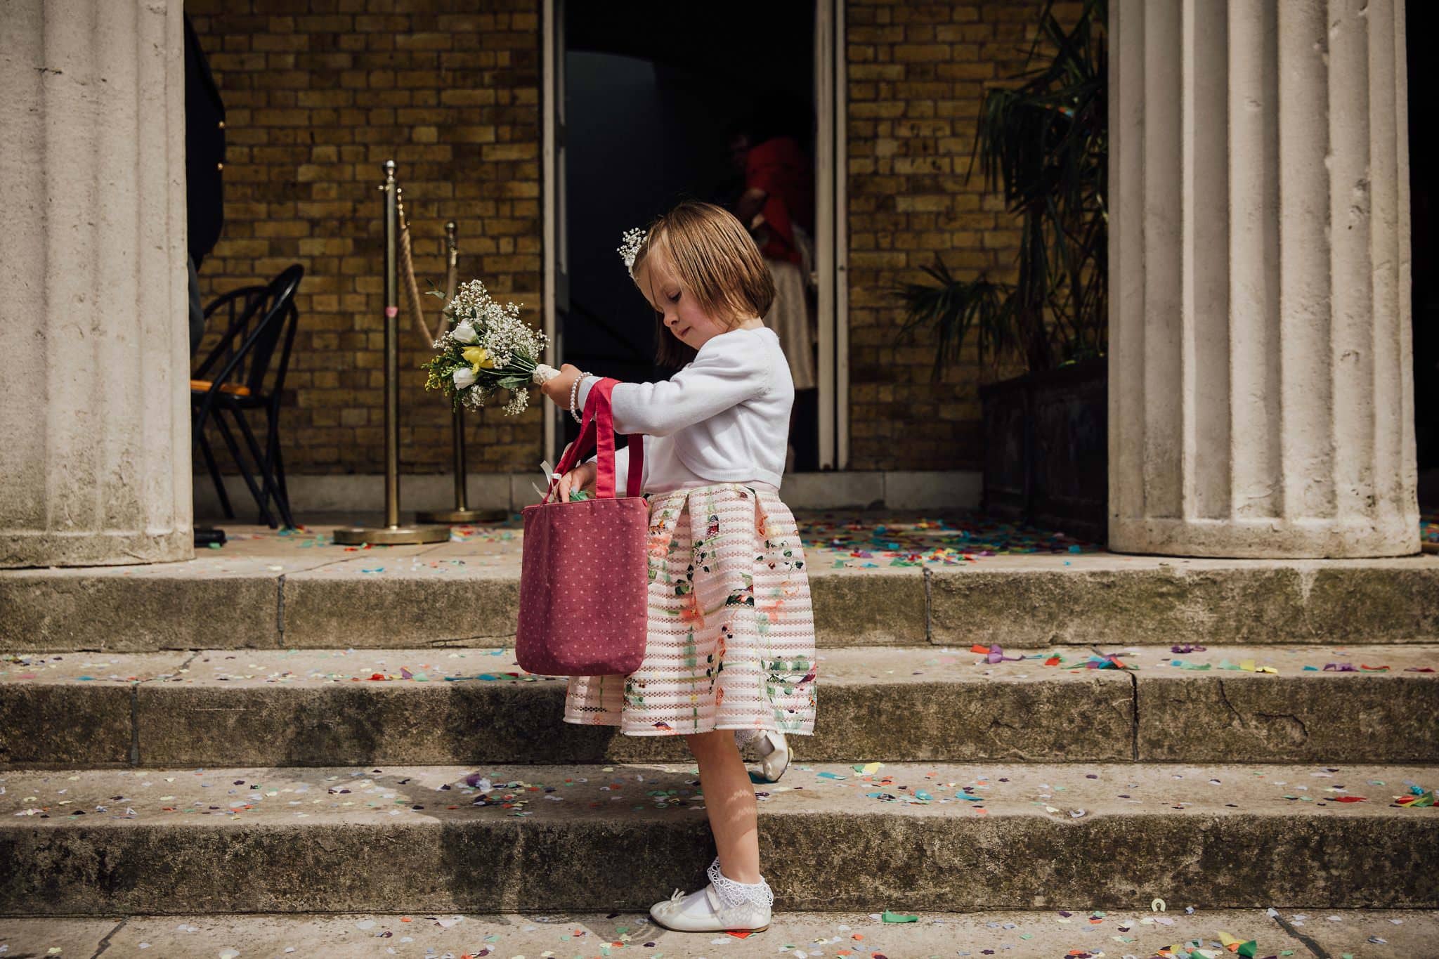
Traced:
<path fill-rule="evenodd" d="M 594 382 L 580 384 L 581 407 Z M 768 326 L 711 336 L 669 380 L 619 382 L 610 394 L 616 433 L 645 434 L 646 493 L 748 482 L 778 489 L 793 405 L 790 367 Z M 616 453 L 614 474 L 623 496 L 629 447 Z"/>

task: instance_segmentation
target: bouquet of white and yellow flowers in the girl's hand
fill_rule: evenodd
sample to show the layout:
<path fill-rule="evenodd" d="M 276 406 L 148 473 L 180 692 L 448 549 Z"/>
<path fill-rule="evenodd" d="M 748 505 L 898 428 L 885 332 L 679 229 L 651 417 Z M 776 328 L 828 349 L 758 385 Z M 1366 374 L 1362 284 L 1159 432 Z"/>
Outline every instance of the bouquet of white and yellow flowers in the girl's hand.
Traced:
<path fill-rule="evenodd" d="M 439 290 L 432 296 L 445 298 Z M 501 306 L 479 280 L 462 283 L 443 316 L 449 329 L 435 341 L 439 355 L 422 370 L 426 390 L 443 390 L 458 410 L 478 410 L 495 393 L 509 394 L 505 413 L 515 416 L 530 405 L 530 387 L 558 375 L 540 362 L 547 338 L 519 319 L 519 306 Z"/>

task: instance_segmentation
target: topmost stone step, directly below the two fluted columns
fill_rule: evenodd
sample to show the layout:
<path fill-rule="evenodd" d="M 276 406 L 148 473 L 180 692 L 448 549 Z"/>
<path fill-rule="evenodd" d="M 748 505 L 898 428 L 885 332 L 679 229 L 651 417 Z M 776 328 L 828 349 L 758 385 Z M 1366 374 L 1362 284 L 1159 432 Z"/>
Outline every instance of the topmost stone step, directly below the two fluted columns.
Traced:
<path fill-rule="evenodd" d="M 0 571 L 0 648 L 414 648 L 512 640 L 518 532 L 345 549 L 324 536 L 258 536 L 183 564 Z M 1439 641 L 1439 556 L 1229 561 L 1088 552 L 925 566 L 820 548 L 806 556 L 823 647 L 1040 648 L 1154 637 Z"/>

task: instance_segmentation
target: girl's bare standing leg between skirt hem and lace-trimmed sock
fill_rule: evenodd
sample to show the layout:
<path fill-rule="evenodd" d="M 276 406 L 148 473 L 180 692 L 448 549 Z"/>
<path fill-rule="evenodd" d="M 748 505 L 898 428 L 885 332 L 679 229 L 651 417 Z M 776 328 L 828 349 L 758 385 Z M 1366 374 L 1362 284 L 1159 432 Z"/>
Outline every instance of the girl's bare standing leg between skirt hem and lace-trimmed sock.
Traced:
<path fill-rule="evenodd" d="M 685 736 L 699 762 L 709 830 L 720 851 L 720 871 L 737 883 L 760 881 L 760 827 L 750 772 L 732 729 Z"/>

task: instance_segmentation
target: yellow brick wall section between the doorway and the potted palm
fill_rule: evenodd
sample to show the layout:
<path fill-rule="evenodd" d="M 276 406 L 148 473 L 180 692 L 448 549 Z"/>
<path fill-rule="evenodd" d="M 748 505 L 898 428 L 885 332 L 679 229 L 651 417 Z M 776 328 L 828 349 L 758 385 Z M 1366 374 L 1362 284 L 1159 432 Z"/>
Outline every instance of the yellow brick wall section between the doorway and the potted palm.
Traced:
<path fill-rule="evenodd" d="M 968 344 L 932 382 L 935 341 L 895 342 L 889 290 L 925 279 L 935 256 L 958 276 L 1012 276 L 1013 219 L 979 170 L 966 174 L 984 89 L 1023 69 L 1040 7 L 846 1 L 853 469 L 977 469 L 979 387 L 1019 372 L 981 367 Z"/>

